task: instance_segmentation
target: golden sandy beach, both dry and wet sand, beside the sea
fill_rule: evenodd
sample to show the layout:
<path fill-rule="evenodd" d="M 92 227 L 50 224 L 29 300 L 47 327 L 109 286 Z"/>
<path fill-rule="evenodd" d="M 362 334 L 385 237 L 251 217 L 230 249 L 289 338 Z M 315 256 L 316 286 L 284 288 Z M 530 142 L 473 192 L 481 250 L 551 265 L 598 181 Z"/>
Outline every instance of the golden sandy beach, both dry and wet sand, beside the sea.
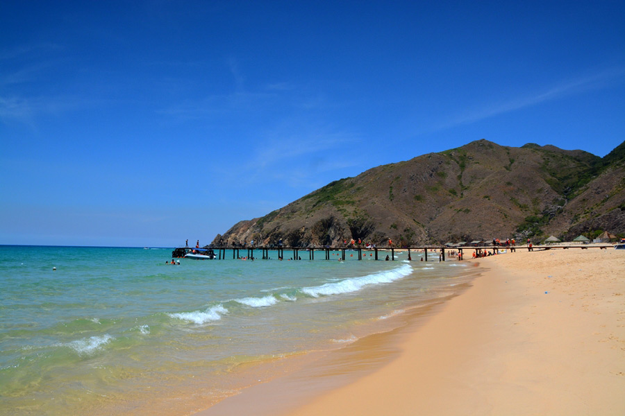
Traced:
<path fill-rule="evenodd" d="M 464 293 L 334 356 L 344 370 L 304 366 L 200 414 L 625 414 L 625 252 L 467 263 L 482 272 Z"/>

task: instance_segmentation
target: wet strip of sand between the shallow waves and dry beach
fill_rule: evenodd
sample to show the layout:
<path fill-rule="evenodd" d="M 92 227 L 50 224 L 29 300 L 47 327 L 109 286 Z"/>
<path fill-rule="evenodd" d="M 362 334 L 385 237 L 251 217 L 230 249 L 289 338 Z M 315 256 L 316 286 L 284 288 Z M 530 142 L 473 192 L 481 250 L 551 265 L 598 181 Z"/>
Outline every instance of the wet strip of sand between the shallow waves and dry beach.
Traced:
<path fill-rule="evenodd" d="M 403 313 L 390 314 L 385 319 L 386 324 L 376 332 L 341 347 L 308 351 L 279 361 L 276 363 L 279 371 L 265 373 L 267 377 L 262 381 L 258 379 L 258 383 L 192 415 L 278 415 L 374 372 L 397 356 L 399 340 L 406 336 L 410 327 L 422 324 L 450 299 L 467 291 L 476 272 L 469 275 L 460 277 L 461 280 L 451 286 L 435 288 L 432 293 L 438 295 L 412 303 L 403 309 Z M 283 395 L 285 390 L 289 392 L 288 396 Z M 267 397 L 272 399 L 267 400 Z M 274 399 L 277 397 L 279 400 Z"/>

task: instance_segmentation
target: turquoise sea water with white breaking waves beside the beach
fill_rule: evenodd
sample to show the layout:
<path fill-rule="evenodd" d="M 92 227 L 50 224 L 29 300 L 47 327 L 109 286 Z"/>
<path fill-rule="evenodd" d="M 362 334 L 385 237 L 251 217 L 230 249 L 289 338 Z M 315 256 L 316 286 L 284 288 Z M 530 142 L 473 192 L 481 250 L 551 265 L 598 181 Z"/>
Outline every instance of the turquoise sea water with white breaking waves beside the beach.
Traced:
<path fill-rule="evenodd" d="M 259 365 L 347 345 L 472 275 L 415 253 L 172 266 L 171 252 L 0 246 L 0 414 L 187 414 Z"/>

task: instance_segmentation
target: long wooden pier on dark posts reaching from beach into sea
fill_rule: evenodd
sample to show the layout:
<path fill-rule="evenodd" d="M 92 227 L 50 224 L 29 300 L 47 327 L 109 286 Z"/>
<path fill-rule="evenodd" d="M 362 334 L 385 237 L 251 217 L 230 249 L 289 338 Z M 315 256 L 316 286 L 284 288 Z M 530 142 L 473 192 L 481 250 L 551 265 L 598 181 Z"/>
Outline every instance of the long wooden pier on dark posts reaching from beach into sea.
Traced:
<path fill-rule="evenodd" d="M 470 246 L 462 246 L 462 247 L 448 247 L 441 245 L 428 245 L 428 246 L 413 246 L 413 247 L 402 247 L 402 248 L 394 248 L 394 247 L 383 247 L 383 248 L 363 248 L 358 246 L 348 246 L 348 247 L 221 247 L 221 248 L 212 248 L 213 252 L 215 252 L 215 259 L 224 260 L 226 259 L 226 250 L 232 250 L 232 258 L 240 259 L 241 254 L 247 254 L 244 256 L 247 259 L 258 259 L 258 257 L 254 257 L 254 251 L 257 253 L 261 252 L 260 259 L 266 260 L 270 259 L 269 252 L 277 252 L 278 259 L 284 260 L 285 251 L 290 254 L 292 252 L 291 259 L 293 260 L 301 260 L 302 252 L 308 253 L 308 260 L 315 260 L 315 252 L 322 252 L 324 254 L 324 259 L 330 260 L 332 252 L 338 252 L 341 260 L 347 259 L 347 252 L 350 252 L 350 257 L 353 257 L 353 254 L 357 254 L 357 259 L 362 260 L 363 257 L 367 257 L 367 253 L 369 253 L 369 257 L 373 257 L 374 260 L 381 260 L 380 253 L 386 254 L 388 260 L 395 260 L 395 250 L 402 250 L 408 252 L 408 260 L 412 260 L 412 254 L 424 254 L 424 261 L 428 261 L 428 251 L 430 253 L 430 257 L 438 254 L 441 261 L 445 261 L 446 252 L 458 252 L 458 260 L 462 261 L 464 259 L 464 250 L 475 250 L 478 257 L 483 257 L 492 252 L 492 254 L 498 254 L 501 250 L 507 250 L 508 252 L 515 252 L 516 250 L 529 250 L 529 251 L 544 251 L 544 250 L 557 250 L 563 249 L 567 250 L 569 248 L 572 249 L 588 249 L 588 248 L 599 248 L 606 249 L 612 248 L 610 245 L 535 245 L 529 248 L 527 245 L 524 246 L 514 246 L 514 245 L 483 245 L 478 247 L 470 247 Z M 187 248 L 188 249 L 188 248 Z M 247 253 L 246 253 L 247 250 Z M 364 255 L 363 255 L 364 254 Z M 306 256 L 306 254 L 304 254 Z M 420 257 L 420 256 L 419 256 Z M 455 257 L 455 256 L 454 256 Z M 385 258 L 386 259 L 386 258 Z"/>

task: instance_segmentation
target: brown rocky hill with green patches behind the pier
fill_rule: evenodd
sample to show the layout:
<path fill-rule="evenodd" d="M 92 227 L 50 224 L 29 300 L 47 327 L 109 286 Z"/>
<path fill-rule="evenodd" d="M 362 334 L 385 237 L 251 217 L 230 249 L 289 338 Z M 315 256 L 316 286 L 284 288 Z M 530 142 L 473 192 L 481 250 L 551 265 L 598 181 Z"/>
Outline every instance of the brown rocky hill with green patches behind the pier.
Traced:
<path fill-rule="evenodd" d="M 235 224 L 213 245 L 385 245 L 625 234 L 625 142 L 583 150 L 473 141 L 331 182 Z"/>

